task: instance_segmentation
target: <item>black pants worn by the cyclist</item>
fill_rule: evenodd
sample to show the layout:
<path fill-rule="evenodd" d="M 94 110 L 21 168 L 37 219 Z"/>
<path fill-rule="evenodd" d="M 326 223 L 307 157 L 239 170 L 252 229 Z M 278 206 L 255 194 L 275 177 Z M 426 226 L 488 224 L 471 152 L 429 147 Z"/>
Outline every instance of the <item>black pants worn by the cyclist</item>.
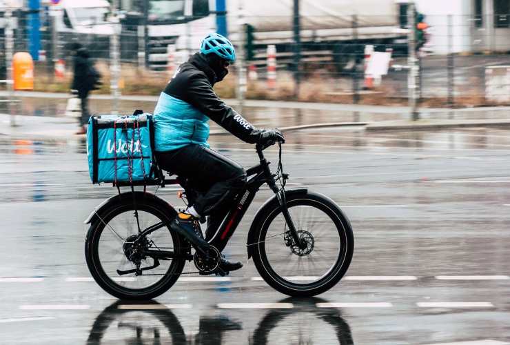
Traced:
<path fill-rule="evenodd" d="M 198 190 L 193 205 L 201 215 L 225 206 L 244 188 L 246 172 L 242 166 L 220 153 L 200 145 L 156 152 L 158 164 L 172 174 L 185 177 Z"/>

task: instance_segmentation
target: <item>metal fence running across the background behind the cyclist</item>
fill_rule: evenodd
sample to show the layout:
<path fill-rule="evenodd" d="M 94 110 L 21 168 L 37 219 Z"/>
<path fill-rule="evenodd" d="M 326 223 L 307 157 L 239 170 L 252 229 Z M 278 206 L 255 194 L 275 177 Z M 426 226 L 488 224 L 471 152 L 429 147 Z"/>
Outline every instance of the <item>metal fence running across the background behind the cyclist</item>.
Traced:
<path fill-rule="evenodd" d="M 30 13 L 13 13 L 16 20 L 12 38 L 14 52 L 30 51 Z M 233 75 L 218 85 L 223 97 L 300 99 L 341 103 L 409 104 L 416 92 L 425 106 L 476 106 L 510 103 L 510 14 L 491 17 L 427 16 L 427 43 L 416 52 L 417 79 L 413 54 L 409 55 L 409 26 L 414 15 L 400 13 L 394 23 L 380 17 L 356 15 L 337 18 L 291 17 L 241 18 L 243 23 L 289 23 L 288 28 L 257 30 L 240 25 L 230 32 L 240 60 Z M 193 21 L 183 31 L 187 45 L 176 46 L 179 37 L 154 34 L 146 25 L 119 24 L 119 48 L 114 34 L 78 33 L 56 30 L 52 17 L 39 12 L 40 48 L 35 61 L 35 88 L 65 92 L 72 77 L 72 43 L 86 46 L 103 74 L 103 92 L 158 95 L 180 61 L 198 50 Z M 239 21 L 238 15 L 227 17 Z M 369 23 L 382 23 L 370 26 Z M 105 31 L 112 24 L 105 23 Z M 296 25 L 299 35 L 296 36 Z M 505 26 L 506 25 L 506 26 Z M 314 27 L 315 26 L 315 27 Z M 411 32 L 414 32 L 411 26 Z M 6 79 L 6 32 L 0 29 L 0 79 Z M 115 56 L 119 53 L 119 58 Z M 379 54 L 380 53 L 380 54 Z M 370 59 L 391 55 L 389 68 L 370 75 Z M 384 60 L 384 59 L 383 59 Z M 381 60 L 381 61 L 383 61 Z M 375 60 L 374 60 L 375 61 Z M 378 67 L 384 68 L 379 61 Z M 55 68 L 65 66 L 64 77 Z M 115 64 L 119 75 L 115 76 Z M 374 63 L 373 63 L 374 64 Z M 381 67 L 382 65 L 383 67 Z M 374 66 L 372 66 L 374 67 Z M 377 67 L 377 66 L 376 66 Z M 113 86 L 113 88 L 112 88 Z M 116 94 L 118 97 L 119 93 Z"/>

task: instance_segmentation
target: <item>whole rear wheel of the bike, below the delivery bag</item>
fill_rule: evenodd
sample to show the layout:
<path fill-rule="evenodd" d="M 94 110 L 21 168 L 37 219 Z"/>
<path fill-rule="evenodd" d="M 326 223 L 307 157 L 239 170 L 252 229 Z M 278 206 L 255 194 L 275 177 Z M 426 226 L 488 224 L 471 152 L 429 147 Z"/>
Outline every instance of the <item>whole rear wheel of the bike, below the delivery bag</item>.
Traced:
<path fill-rule="evenodd" d="M 152 299 L 176 282 L 184 259 L 159 259 L 159 266 L 142 270 L 141 275 L 136 272 L 121 275 L 118 270 L 135 270 L 137 263 L 142 269 L 154 266 L 154 258 L 138 254 L 144 248 L 172 251 L 179 256 L 183 252 L 183 242 L 165 225 L 170 224 L 170 215 L 152 199 L 136 203 L 138 219 L 134 210 L 132 198 L 126 197 L 96 219 L 86 237 L 85 258 L 94 280 L 110 295 L 121 299 Z M 157 224 L 157 230 L 139 238 L 139 228 L 143 231 Z"/>

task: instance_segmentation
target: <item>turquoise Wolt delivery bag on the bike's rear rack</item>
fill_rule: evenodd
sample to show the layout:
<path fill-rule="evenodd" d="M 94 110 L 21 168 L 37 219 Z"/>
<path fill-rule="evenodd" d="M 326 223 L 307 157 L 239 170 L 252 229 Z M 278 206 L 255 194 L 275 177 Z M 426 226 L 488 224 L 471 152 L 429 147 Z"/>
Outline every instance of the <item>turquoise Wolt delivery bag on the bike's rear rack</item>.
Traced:
<path fill-rule="evenodd" d="M 88 121 L 87 156 L 93 184 L 147 184 L 154 181 L 156 164 L 152 115 L 93 115 Z"/>

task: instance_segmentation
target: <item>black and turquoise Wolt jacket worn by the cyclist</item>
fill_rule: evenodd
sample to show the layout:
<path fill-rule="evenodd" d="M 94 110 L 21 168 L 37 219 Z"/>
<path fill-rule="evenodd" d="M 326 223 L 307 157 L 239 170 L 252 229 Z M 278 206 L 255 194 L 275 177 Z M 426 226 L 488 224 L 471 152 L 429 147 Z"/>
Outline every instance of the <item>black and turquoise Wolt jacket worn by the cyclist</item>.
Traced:
<path fill-rule="evenodd" d="M 258 142 L 262 131 L 216 95 L 215 81 L 216 74 L 200 53 L 179 67 L 154 109 L 156 151 L 190 144 L 208 147 L 209 119 L 247 143 Z"/>

